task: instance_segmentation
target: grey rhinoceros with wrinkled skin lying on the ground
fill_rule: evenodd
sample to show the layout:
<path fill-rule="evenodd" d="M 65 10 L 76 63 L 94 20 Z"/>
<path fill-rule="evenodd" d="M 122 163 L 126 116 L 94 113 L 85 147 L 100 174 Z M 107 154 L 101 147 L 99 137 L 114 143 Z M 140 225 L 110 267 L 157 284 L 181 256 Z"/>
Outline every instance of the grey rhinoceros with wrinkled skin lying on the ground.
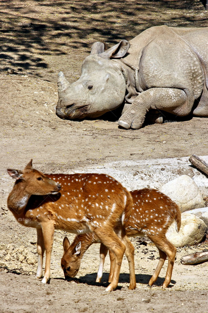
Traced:
<path fill-rule="evenodd" d="M 208 116 L 207 89 L 208 27 L 156 26 L 105 52 L 94 43 L 72 85 L 60 72 L 56 114 L 94 118 L 125 103 L 118 125 L 139 129 L 149 110 L 157 123 L 160 110 Z"/>

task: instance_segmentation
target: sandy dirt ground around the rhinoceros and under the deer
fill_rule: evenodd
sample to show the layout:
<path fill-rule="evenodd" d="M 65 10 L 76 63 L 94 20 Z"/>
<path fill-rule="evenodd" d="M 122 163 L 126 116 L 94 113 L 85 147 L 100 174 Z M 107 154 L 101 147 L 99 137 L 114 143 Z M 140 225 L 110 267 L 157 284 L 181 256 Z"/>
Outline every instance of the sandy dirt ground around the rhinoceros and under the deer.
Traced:
<path fill-rule="evenodd" d="M 119 39 L 164 23 L 208 26 L 207 12 L 200 1 L 1 1 L 0 312 L 208 312 L 208 263 L 180 262 L 182 255 L 208 249 L 207 240 L 177 249 L 171 284 L 161 290 L 167 261 L 156 285 L 148 288 L 159 254 L 147 238 L 131 239 L 137 288 L 127 289 L 124 257 L 118 289 L 107 294 L 109 257 L 101 284 L 95 283 L 97 244 L 87 250 L 77 281 L 67 282 L 60 267 L 62 241 L 65 235 L 72 241 L 74 235 L 56 231 L 52 279 L 42 285 L 34 278 L 36 230 L 18 224 L 6 204 L 13 186 L 6 168 L 22 169 L 31 158 L 40 171 L 71 173 L 113 161 L 207 155 L 208 118 L 180 119 L 164 113 L 165 123 L 146 123 L 132 131 L 117 127 L 119 112 L 84 121 L 55 115 L 58 70 L 73 82 L 94 41 L 109 48 Z M 15 73 L 8 74 L 8 68 Z"/>

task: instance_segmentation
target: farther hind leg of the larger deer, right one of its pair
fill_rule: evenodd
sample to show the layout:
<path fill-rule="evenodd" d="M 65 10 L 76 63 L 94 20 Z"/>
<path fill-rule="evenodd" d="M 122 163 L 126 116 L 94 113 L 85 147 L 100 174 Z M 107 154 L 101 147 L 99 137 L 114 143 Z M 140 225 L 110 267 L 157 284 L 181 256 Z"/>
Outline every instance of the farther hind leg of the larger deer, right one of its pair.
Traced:
<path fill-rule="evenodd" d="M 126 246 L 125 255 L 129 262 L 130 285 L 128 289 L 136 288 L 136 276 L 134 268 L 134 246 L 126 235 L 122 236 L 121 241 Z"/>

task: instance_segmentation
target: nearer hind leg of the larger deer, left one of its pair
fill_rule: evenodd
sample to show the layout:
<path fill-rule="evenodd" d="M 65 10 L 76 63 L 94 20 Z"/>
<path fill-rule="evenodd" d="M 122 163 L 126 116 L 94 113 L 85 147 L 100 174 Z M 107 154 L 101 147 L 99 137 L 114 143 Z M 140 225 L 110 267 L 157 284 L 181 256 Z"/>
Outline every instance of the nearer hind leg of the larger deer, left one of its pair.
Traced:
<path fill-rule="evenodd" d="M 106 229 L 100 228 L 95 230 L 95 234 L 109 250 L 112 250 L 115 255 L 115 267 L 113 271 L 112 281 L 110 285 L 108 285 L 108 287 L 106 288 L 106 291 L 112 291 L 118 285 L 121 262 L 126 247 L 124 244 L 122 244 L 121 240 L 116 236 L 116 233 L 113 230 L 111 230 L 110 232 L 106 232 Z"/>

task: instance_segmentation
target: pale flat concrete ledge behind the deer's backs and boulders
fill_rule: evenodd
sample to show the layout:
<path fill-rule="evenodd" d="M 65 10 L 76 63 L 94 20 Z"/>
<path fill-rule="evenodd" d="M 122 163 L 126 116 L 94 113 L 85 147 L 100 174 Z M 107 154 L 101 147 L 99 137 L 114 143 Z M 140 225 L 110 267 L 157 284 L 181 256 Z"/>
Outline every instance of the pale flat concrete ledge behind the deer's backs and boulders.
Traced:
<path fill-rule="evenodd" d="M 200 156 L 208 162 L 208 156 Z M 141 161 L 116 161 L 87 169 L 77 168 L 67 173 L 106 173 L 123 184 L 128 190 L 144 187 L 160 189 L 165 183 L 181 175 L 193 178 L 202 194 L 208 195 L 208 179 L 189 162 L 189 156 L 181 158 L 148 159 Z"/>

